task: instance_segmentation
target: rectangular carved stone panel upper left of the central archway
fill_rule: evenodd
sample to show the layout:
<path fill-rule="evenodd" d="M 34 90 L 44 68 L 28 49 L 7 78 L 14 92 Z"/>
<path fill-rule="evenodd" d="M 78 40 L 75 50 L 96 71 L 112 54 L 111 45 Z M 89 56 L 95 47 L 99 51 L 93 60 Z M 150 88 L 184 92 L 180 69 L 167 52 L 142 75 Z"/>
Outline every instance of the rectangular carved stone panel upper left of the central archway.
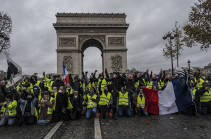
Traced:
<path fill-rule="evenodd" d="M 60 47 L 75 47 L 76 46 L 76 38 L 60 38 L 59 39 Z"/>

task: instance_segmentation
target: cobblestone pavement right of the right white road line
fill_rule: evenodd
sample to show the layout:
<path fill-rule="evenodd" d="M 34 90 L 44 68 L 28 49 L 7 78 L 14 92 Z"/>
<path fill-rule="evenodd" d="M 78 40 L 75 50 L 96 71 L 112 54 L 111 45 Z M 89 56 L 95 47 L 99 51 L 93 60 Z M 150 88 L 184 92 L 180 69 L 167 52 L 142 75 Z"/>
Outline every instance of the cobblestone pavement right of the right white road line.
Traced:
<path fill-rule="evenodd" d="M 210 139 L 211 116 L 152 115 L 101 119 L 103 139 Z"/>

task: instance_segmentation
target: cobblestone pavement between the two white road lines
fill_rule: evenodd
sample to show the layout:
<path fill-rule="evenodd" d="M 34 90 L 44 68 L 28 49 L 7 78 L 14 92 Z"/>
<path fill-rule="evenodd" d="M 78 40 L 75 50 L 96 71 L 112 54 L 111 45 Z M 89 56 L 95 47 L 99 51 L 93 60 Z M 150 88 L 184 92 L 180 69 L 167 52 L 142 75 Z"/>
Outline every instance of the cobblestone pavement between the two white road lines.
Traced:
<path fill-rule="evenodd" d="M 81 119 L 64 122 L 52 139 L 93 139 L 94 121 Z"/>

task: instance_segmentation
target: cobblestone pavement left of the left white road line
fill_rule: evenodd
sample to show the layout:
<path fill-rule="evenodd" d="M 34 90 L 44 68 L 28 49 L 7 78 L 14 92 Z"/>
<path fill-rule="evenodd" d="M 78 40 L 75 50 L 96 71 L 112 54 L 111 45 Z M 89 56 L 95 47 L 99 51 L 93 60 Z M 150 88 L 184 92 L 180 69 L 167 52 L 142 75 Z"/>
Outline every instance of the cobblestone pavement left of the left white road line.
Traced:
<path fill-rule="evenodd" d="M 42 139 L 55 123 L 47 126 L 22 125 L 0 127 L 0 139 Z"/>

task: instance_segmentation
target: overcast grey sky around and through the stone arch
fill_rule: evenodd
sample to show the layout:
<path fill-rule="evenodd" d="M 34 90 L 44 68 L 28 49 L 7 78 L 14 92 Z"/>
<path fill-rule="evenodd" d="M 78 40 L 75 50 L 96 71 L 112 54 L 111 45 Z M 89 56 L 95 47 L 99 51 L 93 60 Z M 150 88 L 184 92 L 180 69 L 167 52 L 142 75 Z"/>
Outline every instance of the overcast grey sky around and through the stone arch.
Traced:
<path fill-rule="evenodd" d="M 175 21 L 184 25 L 196 0 L 0 0 L 0 10 L 13 21 L 11 57 L 23 68 L 23 73 L 56 72 L 57 12 L 126 13 L 128 68 L 149 68 L 158 72 L 170 68 L 170 60 L 163 57 L 163 35 L 174 27 Z M 211 50 L 185 48 L 180 66 L 203 67 L 211 62 Z M 85 51 L 85 70 L 101 69 L 100 51 Z M 100 59 L 95 62 L 96 59 Z M 176 64 L 176 61 L 175 61 Z M 6 59 L 0 55 L 0 70 L 6 70 Z"/>

